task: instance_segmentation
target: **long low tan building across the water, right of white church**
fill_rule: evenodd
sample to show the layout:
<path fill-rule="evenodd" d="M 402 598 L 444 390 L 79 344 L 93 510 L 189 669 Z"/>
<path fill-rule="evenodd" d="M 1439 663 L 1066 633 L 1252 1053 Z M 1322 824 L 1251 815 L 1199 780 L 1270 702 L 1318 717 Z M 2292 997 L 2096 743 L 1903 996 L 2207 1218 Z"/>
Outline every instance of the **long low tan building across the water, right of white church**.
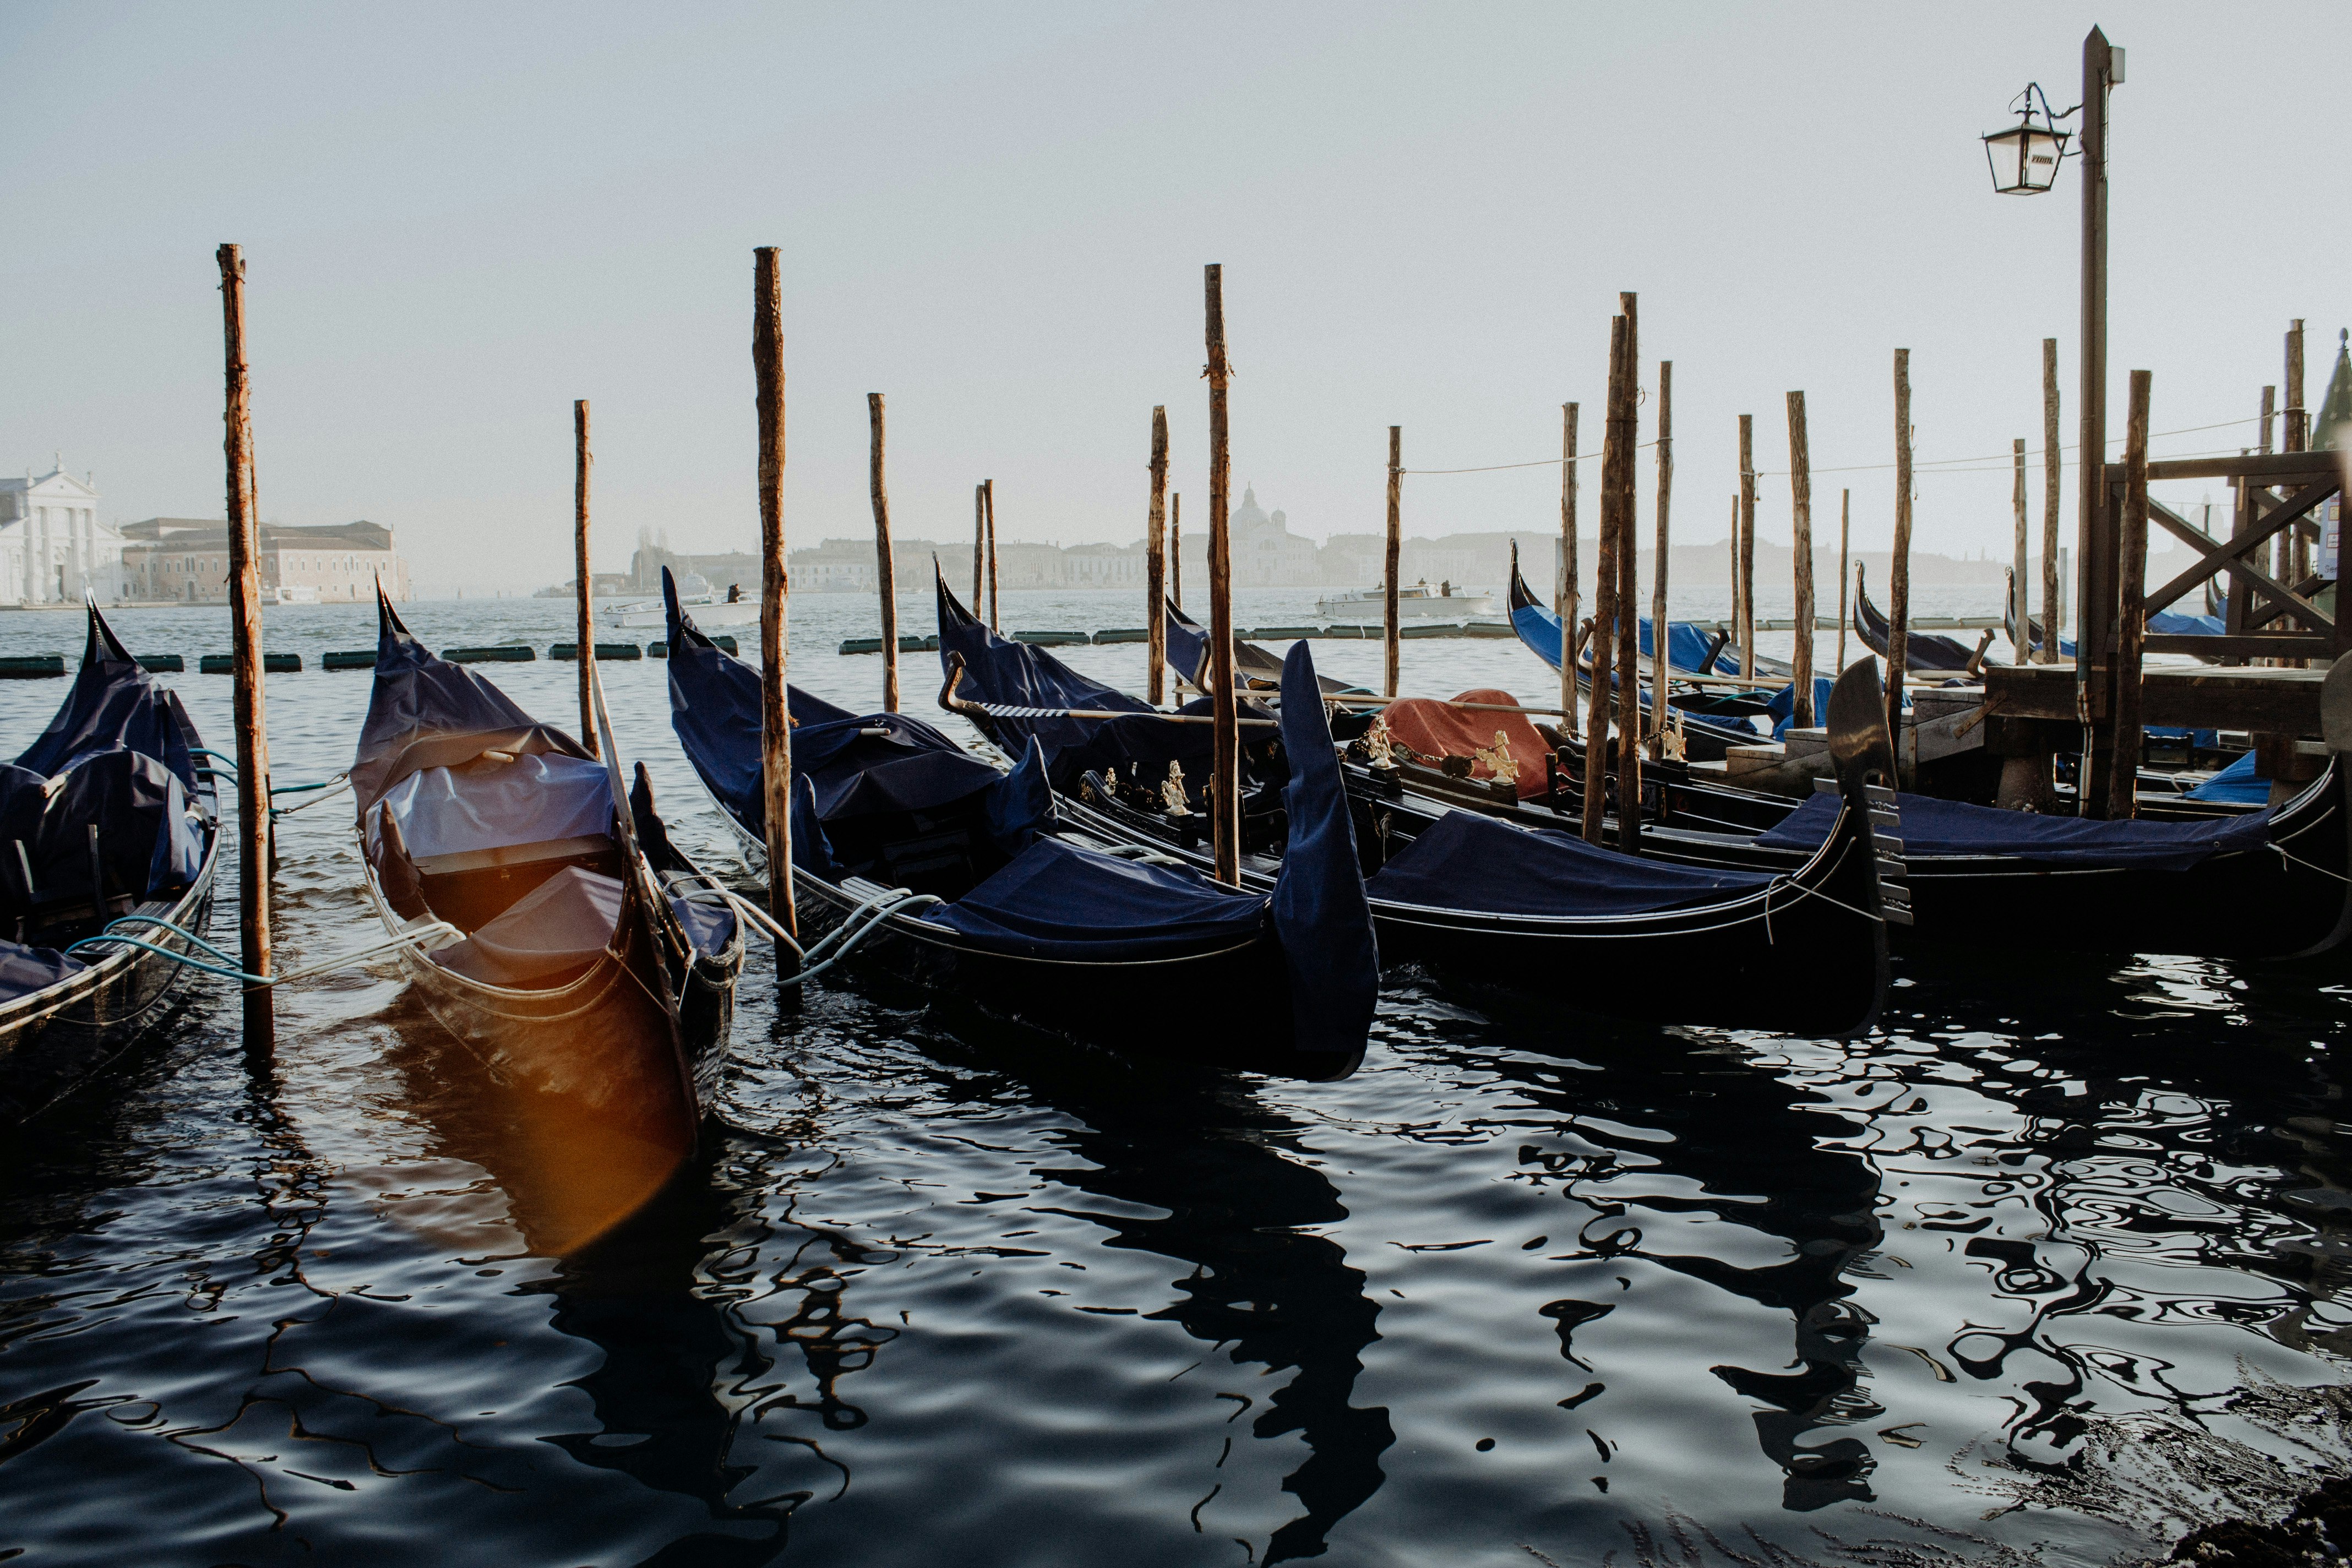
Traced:
<path fill-rule="evenodd" d="M 289 529 L 263 522 L 263 602 L 362 604 L 376 583 L 393 599 L 409 597 L 409 564 L 393 548 L 381 522 L 339 522 Z M 179 599 L 183 604 L 228 602 L 228 524 L 214 517 L 148 517 L 122 524 L 125 597 Z"/>

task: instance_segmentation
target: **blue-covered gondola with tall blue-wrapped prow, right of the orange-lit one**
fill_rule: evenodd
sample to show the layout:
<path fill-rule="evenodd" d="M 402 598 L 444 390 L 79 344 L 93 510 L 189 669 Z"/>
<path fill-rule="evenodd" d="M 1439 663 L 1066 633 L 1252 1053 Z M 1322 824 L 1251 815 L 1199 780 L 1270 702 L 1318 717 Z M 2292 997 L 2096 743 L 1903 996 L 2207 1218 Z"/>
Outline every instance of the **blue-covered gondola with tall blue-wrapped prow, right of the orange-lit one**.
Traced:
<path fill-rule="evenodd" d="M 760 672 L 677 609 L 668 576 L 663 592 L 673 729 L 746 863 L 767 870 Z M 1317 691 L 1303 651 L 1284 689 Z M 1084 1046 L 1247 1058 L 1305 1079 L 1362 1060 L 1378 961 L 1312 696 L 1284 717 L 1294 745 L 1322 757 L 1282 792 L 1303 849 L 1249 891 L 1129 835 L 1073 832 L 1035 745 L 1009 748 L 1021 762 L 1000 771 L 901 712 L 851 715 L 807 691 L 788 691 L 788 708 L 802 940 L 858 943 L 873 971 Z"/>

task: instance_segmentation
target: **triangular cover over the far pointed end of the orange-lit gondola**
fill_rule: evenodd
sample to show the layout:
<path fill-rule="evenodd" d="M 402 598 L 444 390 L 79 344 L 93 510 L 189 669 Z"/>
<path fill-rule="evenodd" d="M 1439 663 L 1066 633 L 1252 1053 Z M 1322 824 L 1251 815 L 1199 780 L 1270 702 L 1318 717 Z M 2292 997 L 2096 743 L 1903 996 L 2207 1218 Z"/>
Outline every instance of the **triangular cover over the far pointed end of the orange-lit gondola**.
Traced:
<path fill-rule="evenodd" d="M 376 682 L 367 696 L 360 750 L 350 762 L 360 820 L 409 773 L 459 766 L 487 750 L 517 757 L 588 755 L 579 741 L 522 712 L 473 670 L 435 658 L 379 590 Z"/>

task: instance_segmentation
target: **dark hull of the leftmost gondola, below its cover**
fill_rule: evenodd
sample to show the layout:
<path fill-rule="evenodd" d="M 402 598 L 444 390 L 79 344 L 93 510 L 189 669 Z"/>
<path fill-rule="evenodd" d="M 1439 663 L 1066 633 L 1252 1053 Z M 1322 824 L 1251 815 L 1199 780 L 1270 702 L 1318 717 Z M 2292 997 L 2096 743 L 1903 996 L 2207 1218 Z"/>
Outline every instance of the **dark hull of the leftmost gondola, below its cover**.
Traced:
<path fill-rule="evenodd" d="M 219 827 L 212 827 L 205 865 L 176 903 L 146 903 L 139 905 L 139 914 L 169 919 L 181 931 L 207 933 L 221 837 Z M 160 926 L 134 936 L 158 947 L 191 952 L 186 938 Z M 195 957 L 212 961 L 205 954 Z M 193 983 L 195 976 L 183 964 L 127 947 L 61 985 L 0 1009 L 0 1126 L 21 1124 L 99 1079 L 169 1023 Z"/>

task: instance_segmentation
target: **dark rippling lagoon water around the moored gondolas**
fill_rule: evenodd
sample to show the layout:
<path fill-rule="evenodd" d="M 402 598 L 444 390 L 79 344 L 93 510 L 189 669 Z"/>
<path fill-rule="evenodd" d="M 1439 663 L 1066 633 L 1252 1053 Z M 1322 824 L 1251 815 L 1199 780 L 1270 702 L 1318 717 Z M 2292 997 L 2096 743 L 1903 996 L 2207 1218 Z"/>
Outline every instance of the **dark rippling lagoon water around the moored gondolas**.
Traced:
<path fill-rule="evenodd" d="M 569 637 L 560 602 L 412 611 L 433 646 Z M 221 611 L 118 625 L 228 644 Z M 800 682 L 875 701 L 880 661 L 833 654 L 863 599 L 804 597 L 795 632 Z M 348 762 L 367 675 L 318 654 L 369 642 L 367 611 L 270 611 L 310 665 L 268 682 L 280 783 Z M 78 644 L 0 616 L 0 654 Z M 1550 689 L 1503 642 L 1404 658 Z M 1141 677 L 1134 646 L 1073 663 Z M 572 722 L 572 665 L 489 672 Z M 677 837 L 724 858 L 663 665 L 602 672 Z M 228 679 L 172 679 L 228 750 Z M 908 703 L 934 689 L 910 658 Z M 5 750 L 61 696 L 0 684 Z M 348 799 L 287 820 L 278 896 L 282 964 L 369 936 Z M 2352 999 L 2312 976 L 1955 943 L 1853 1044 L 1404 976 L 1364 1070 L 1303 1086 L 873 976 L 779 1018 L 771 973 L 703 1157 L 619 1225 L 593 1152 L 390 971 L 285 997 L 270 1060 L 205 992 L 0 1152 L 0 1559 L 2107 1563 L 2352 1453 Z"/>

